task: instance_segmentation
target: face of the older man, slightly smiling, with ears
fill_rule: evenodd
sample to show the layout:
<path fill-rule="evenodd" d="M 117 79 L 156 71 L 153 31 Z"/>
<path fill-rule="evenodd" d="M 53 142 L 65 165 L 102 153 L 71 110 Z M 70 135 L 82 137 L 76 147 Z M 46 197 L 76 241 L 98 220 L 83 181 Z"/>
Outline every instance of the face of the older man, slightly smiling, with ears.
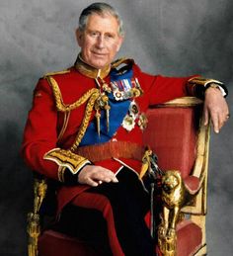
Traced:
<path fill-rule="evenodd" d="M 116 18 L 108 14 L 89 16 L 85 31 L 77 30 L 76 36 L 83 60 L 98 69 L 114 60 L 123 40 Z"/>

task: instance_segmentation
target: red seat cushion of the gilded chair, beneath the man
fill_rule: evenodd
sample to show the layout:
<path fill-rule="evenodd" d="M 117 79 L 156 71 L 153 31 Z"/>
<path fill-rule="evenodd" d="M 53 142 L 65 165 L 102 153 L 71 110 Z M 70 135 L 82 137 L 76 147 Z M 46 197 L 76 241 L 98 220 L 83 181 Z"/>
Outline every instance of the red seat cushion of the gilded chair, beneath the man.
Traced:
<path fill-rule="evenodd" d="M 191 220 L 183 220 L 177 229 L 178 256 L 193 255 L 201 246 L 201 230 Z M 39 237 L 39 256 L 100 256 L 89 244 L 67 235 L 46 230 Z M 116 255 L 117 256 L 117 255 Z"/>

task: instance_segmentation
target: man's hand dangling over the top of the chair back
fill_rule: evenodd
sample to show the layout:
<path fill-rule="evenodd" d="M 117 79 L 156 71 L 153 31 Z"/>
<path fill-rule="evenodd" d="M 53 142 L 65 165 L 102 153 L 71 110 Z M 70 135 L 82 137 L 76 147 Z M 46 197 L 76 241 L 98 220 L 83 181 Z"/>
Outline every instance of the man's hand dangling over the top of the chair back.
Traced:
<path fill-rule="evenodd" d="M 229 119 L 229 109 L 225 98 L 223 98 L 221 91 L 218 88 L 209 87 L 205 91 L 204 100 L 204 126 L 208 124 L 211 119 L 213 129 L 216 133 L 224 126 Z"/>

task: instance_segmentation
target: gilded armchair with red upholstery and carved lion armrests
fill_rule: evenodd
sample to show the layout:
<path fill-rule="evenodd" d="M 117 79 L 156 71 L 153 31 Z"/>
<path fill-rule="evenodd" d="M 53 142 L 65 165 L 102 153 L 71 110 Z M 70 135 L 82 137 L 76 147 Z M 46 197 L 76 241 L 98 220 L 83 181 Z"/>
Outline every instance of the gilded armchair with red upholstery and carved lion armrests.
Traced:
<path fill-rule="evenodd" d="M 179 98 L 148 110 L 148 128 L 144 142 L 149 144 L 165 170 L 162 180 L 162 213 L 158 226 L 158 248 L 161 255 L 205 255 L 205 214 L 209 126 L 202 122 L 202 102 L 194 97 Z M 59 246 L 67 246 L 67 255 L 93 256 L 90 248 L 78 239 L 45 230 L 40 233 L 39 208 L 45 197 L 45 179 L 35 181 L 34 212 L 29 213 L 29 256 L 63 256 Z M 148 225 L 149 221 L 148 221 Z M 53 242 L 54 254 L 46 252 L 45 240 Z M 56 242 L 57 239 L 57 242 Z M 63 244 L 63 245 L 62 245 Z M 87 246 L 86 246 L 87 247 Z M 45 249 L 44 249 L 45 248 Z M 68 253 L 69 252 L 69 253 Z"/>

